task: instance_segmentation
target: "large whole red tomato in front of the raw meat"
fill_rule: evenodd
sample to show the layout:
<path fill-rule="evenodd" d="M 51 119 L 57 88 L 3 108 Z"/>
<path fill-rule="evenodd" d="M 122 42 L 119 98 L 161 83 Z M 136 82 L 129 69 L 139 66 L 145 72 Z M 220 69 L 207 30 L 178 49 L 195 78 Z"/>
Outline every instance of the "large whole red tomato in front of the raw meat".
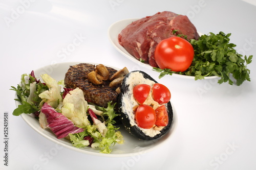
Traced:
<path fill-rule="evenodd" d="M 159 68 L 185 71 L 194 58 L 194 48 L 181 37 L 170 37 L 160 41 L 155 50 L 155 60 Z"/>

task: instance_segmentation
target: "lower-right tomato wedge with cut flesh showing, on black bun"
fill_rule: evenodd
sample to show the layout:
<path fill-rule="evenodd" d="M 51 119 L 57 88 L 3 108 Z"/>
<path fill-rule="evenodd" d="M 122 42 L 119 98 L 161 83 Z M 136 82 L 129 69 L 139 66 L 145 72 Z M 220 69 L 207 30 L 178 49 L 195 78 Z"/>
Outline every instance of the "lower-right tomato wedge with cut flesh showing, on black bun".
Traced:
<path fill-rule="evenodd" d="M 157 126 L 167 126 L 168 125 L 168 113 L 164 105 L 158 107 L 156 110 L 156 123 Z"/>

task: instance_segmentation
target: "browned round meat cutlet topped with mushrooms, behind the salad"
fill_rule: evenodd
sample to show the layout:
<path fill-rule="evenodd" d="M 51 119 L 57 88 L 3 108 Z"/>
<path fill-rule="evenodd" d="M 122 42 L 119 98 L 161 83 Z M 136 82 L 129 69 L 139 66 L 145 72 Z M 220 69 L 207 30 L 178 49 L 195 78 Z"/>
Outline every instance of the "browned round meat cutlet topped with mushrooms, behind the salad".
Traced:
<path fill-rule="evenodd" d="M 110 77 L 117 71 L 114 68 L 106 67 L 110 72 Z M 88 82 L 89 72 L 95 70 L 95 65 L 80 63 L 70 66 L 65 75 L 65 86 L 67 88 L 80 88 L 83 91 L 84 99 L 95 105 L 106 107 L 108 102 L 116 102 L 117 92 L 109 87 L 110 81 L 103 81 L 100 85 L 94 85 Z"/>

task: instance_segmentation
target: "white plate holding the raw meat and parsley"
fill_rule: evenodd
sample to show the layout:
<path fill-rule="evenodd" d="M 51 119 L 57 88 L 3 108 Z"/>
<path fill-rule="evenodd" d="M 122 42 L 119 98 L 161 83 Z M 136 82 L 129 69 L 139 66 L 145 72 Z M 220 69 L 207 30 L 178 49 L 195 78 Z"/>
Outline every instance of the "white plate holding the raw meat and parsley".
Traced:
<path fill-rule="evenodd" d="M 127 52 L 125 50 L 125 48 L 123 46 L 121 46 L 118 42 L 118 34 L 121 33 L 121 31 L 127 25 L 129 25 L 130 23 L 132 23 L 133 21 L 136 21 L 138 19 L 139 18 L 123 19 L 123 20 L 119 20 L 119 21 L 113 23 L 108 30 L 109 39 L 110 39 L 110 42 L 113 44 L 113 46 L 116 48 L 116 50 L 118 52 L 120 52 L 122 55 L 129 58 L 133 62 L 152 70 L 153 67 L 150 64 L 142 63 L 139 60 L 137 60 L 134 56 L 132 56 L 129 52 Z M 185 75 L 179 75 L 179 74 L 173 74 L 172 76 L 179 77 L 179 78 L 185 78 L 185 79 L 195 79 L 194 76 L 185 76 Z M 218 78 L 218 77 L 217 76 L 204 77 L 204 79 L 214 79 L 214 78 Z"/>

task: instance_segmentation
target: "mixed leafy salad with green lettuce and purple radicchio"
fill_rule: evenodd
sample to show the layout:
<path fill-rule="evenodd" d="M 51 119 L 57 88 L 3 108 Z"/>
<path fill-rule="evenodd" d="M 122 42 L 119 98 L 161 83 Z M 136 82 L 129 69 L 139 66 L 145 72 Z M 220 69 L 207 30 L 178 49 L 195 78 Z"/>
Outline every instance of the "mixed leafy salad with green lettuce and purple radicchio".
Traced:
<path fill-rule="evenodd" d="M 17 94 L 14 100 L 20 102 L 13 115 L 34 114 L 41 128 L 49 128 L 58 139 L 66 138 L 77 148 L 92 147 L 109 154 L 113 145 L 124 142 L 115 126 L 116 103 L 109 102 L 106 108 L 89 104 L 81 89 L 65 88 L 62 80 L 57 82 L 47 74 L 41 78 L 44 83 L 32 71 L 22 75 L 17 87 L 11 86 Z"/>

